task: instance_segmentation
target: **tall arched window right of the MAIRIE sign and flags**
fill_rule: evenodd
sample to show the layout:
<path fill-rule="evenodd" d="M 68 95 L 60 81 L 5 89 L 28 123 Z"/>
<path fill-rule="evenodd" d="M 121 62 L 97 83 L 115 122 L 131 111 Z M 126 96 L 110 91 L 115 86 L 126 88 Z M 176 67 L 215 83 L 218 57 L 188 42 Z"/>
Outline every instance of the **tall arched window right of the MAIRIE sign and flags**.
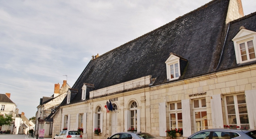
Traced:
<path fill-rule="evenodd" d="M 137 103 L 134 101 L 130 106 L 130 128 L 137 129 Z"/>

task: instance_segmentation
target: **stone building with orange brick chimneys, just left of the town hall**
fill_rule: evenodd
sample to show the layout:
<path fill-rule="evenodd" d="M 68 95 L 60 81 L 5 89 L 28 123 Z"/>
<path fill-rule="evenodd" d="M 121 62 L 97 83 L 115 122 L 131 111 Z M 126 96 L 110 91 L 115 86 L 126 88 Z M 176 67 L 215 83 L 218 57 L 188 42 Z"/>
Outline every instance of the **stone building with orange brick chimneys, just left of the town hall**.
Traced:
<path fill-rule="evenodd" d="M 70 88 L 70 86 L 67 84 L 67 81 L 64 80 L 61 88 L 59 83 L 54 85 L 54 94 L 51 97 L 40 98 L 40 104 L 36 112 L 35 135 L 39 128 L 45 129 L 46 138 L 52 137 L 53 118 L 51 118 L 51 116 L 58 110 L 60 103 L 66 97 L 68 88 Z M 44 123 L 39 124 L 39 126 L 38 118 L 44 119 Z"/>

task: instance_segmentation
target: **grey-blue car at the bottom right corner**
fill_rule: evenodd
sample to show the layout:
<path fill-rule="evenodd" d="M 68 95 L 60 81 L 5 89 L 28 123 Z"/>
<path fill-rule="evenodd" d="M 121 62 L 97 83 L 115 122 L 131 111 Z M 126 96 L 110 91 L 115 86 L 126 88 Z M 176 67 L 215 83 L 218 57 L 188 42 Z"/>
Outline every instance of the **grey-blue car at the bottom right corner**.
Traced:
<path fill-rule="evenodd" d="M 256 139 L 255 129 L 223 128 L 198 131 L 187 139 Z"/>

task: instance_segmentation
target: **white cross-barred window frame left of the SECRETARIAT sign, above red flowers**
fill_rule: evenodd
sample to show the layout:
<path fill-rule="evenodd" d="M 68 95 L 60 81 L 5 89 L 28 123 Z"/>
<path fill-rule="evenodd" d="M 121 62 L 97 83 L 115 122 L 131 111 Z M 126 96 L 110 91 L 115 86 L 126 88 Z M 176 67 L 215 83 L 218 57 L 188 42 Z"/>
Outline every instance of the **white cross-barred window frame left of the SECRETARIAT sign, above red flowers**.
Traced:
<path fill-rule="evenodd" d="M 183 126 L 182 127 L 178 127 L 178 114 L 181 113 L 182 115 L 182 104 L 181 104 L 181 109 L 178 109 L 178 105 L 177 103 L 181 103 L 181 101 L 178 101 L 178 102 L 169 102 L 168 103 L 168 106 L 169 106 L 169 129 L 183 129 Z M 171 106 L 170 104 L 174 104 L 175 105 L 175 108 L 174 110 L 171 110 Z M 176 127 L 171 127 L 171 114 L 175 114 L 175 122 L 176 122 Z M 182 118 L 183 119 L 183 118 Z M 181 119 L 181 120 L 182 120 Z M 172 120 L 174 121 L 174 120 Z M 182 120 L 183 122 L 183 120 Z"/>

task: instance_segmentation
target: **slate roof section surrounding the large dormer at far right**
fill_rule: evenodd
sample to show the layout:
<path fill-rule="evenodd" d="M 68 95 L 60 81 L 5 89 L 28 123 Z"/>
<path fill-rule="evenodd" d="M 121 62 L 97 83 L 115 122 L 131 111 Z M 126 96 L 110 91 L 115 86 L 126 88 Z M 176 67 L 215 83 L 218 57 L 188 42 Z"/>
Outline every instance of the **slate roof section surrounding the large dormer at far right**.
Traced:
<path fill-rule="evenodd" d="M 231 39 L 233 39 L 236 36 L 236 34 L 240 31 L 241 26 L 244 26 L 245 29 L 256 31 L 256 12 L 230 22 L 227 39 L 223 48 L 221 63 L 218 67 L 218 70 L 224 70 L 227 68 L 255 63 L 251 62 L 240 65 L 236 64 L 234 43 L 233 41 L 231 41 Z"/>

